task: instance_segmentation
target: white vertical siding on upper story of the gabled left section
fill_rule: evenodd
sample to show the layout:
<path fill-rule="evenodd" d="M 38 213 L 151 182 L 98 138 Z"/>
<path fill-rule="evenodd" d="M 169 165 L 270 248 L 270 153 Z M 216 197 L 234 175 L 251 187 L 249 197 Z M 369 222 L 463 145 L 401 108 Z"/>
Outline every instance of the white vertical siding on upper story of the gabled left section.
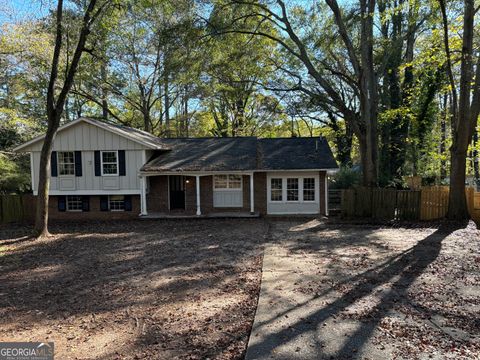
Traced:
<path fill-rule="evenodd" d="M 38 173 L 42 142 L 32 145 L 32 184 L 38 189 Z M 125 150 L 126 176 L 95 176 L 95 150 Z M 81 151 L 82 176 L 56 176 L 50 180 L 50 194 L 139 194 L 138 171 L 143 166 L 145 147 L 117 134 L 85 122 L 58 133 L 53 151 Z"/>

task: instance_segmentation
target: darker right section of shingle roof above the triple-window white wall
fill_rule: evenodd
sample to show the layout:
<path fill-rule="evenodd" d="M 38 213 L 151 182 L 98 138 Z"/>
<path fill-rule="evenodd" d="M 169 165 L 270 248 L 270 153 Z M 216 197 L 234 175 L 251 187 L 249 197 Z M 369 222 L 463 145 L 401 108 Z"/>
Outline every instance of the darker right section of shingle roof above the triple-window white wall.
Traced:
<path fill-rule="evenodd" d="M 328 142 L 323 137 L 258 139 L 262 170 L 336 169 Z"/>

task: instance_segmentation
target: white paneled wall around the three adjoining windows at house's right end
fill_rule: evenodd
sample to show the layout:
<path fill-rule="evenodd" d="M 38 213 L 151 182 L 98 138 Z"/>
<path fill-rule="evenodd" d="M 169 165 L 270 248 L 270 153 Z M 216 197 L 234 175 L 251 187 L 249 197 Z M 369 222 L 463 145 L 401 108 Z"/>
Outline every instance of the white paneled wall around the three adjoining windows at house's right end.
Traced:
<path fill-rule="evenodd" d="M 271 179 L 283 180 L 282 201 L 271 200 Z M 299 179 L 299 200 L 287 201 L 287 178 Z M 303 179 L 315 179 L 315 201 L 303 201 Z M 269 172 L 267 173 L 267 213 L 281 214 L 318 214 L 320 212 L 320 179 L 318 172 Z"/>

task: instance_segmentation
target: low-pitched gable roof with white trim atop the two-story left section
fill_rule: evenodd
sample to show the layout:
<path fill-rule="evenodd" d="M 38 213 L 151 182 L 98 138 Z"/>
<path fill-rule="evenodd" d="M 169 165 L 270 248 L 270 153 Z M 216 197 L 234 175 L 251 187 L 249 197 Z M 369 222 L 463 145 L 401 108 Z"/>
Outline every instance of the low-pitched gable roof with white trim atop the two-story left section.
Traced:
<path fill-rule="evenodd" d="M 160 138 L 146 131 L 134 129 L 128 126 L 116 125 L 106 121 L 100 121 L 100 120 L 95 120 L 95 119 L 86 118 L 86 117 L 80 117 L 74 121 L 71 121 L 69 123 L 66 123 L 65 125 L 60 126 L 58 128 L 58 133 L 81 122 L 85 122 L 85 123 L 97 126 L 106 131 L 110 131 L 114 134 L 127 138 L 133 142 L 146 146 L 147 148 L 150 148 L 150 149 L 154 149 L 154 150 L 168 149 L 165 147 L 163 141 Z M 45 135 L 37 136 L 32 140 L 17 146 L 16 148 L 13 149 L 13 151 L 21 151 L 29 147 L 30 145 L 43 140 L 44 138 L 45 138 Z"/>

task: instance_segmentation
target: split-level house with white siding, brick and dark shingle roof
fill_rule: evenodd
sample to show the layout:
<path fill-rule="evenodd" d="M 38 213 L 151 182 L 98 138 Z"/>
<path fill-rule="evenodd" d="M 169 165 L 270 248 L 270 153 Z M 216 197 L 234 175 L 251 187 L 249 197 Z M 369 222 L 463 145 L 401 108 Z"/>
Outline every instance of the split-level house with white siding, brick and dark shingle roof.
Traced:
<path fill-rule="evenodd" d="M 15 149 L 30 153 L 34 195 L 43 138 Z M 54 141 L 50 217 L 326 215 L 336 169 L 323 138 L 161 139 L 79 118 Z"/>

